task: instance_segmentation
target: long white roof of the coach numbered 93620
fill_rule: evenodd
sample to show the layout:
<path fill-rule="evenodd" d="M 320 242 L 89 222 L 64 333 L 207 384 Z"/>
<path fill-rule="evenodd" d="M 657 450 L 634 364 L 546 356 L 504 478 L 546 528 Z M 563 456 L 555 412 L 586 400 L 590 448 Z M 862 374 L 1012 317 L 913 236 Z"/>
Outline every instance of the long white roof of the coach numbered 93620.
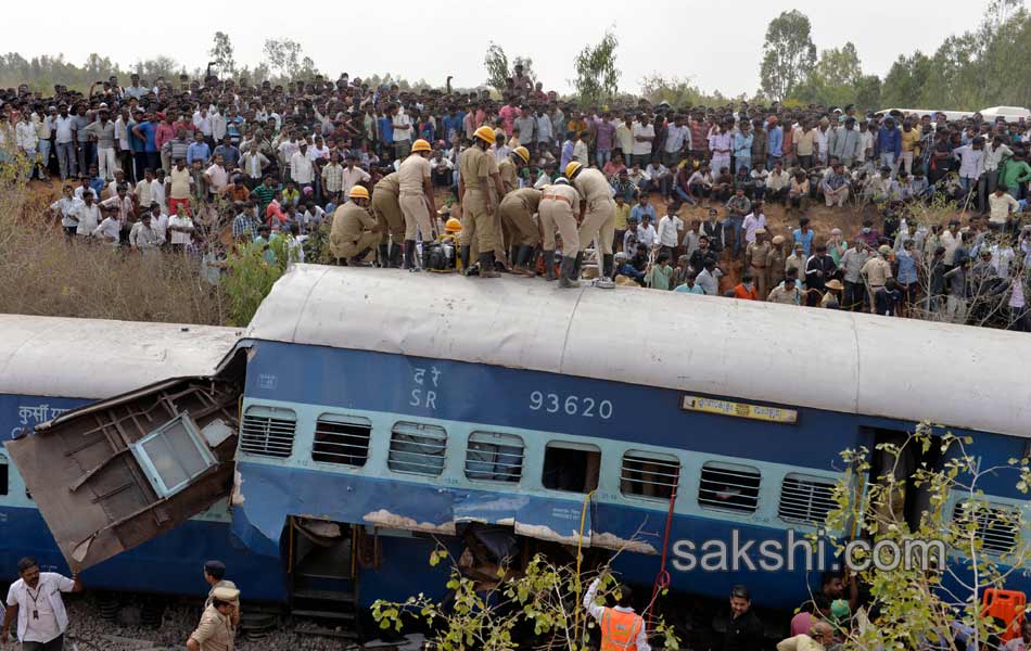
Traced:
<path fill-rule="evenodd" d="M 1029 435 L 1031 336 L 525 279 L 297 265 L 247 336 Z"/>

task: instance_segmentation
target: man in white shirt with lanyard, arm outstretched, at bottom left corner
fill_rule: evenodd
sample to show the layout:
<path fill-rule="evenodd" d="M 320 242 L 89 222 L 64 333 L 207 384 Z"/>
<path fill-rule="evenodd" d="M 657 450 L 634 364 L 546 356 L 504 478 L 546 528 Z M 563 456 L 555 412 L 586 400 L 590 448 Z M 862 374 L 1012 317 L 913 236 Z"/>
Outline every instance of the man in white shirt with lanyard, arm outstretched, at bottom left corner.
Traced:
<path fill-rule="evenodd" d="M 17 639 L 23 651 L 61 651 L 68 614 L 61 592 L 81 592 L 77 572 L 72 578 L 55 572 L 40 572 L 36 559 L 25 558 L 17 563 L 21 578 L 8 590 L 8 610 L 0 626 L 0 644 L 7 647 L 11 623 L 17 620 Z"/>

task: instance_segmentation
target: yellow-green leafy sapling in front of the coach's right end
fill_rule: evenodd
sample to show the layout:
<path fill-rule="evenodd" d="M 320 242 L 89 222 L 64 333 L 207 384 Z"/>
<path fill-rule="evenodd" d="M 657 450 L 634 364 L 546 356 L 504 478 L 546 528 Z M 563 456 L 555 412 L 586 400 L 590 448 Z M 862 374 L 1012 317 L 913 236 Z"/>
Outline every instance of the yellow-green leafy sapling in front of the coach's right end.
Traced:
<path fill-rule="evenodd" d="M 981 611 L 982 595 L 1022 571 L 1027 520 L 1021 507 L 990 502 L 982 484 L 1000 486 L 1009 475 L 1027 494 L 1031 468 L 1028 458 L 988 468 L 971 444 L 921 423 L 873 452 L 864 447 L 841 454 L 847 471 L 833 494 L 839 508 L 826 525 L 865 542 L 836 547 L 869 587 L 867 613 L 877 613 L 876 625 L 839 631 L 845 649 L 962 651 L 957 627 L 971 631 L 971 648 L 984 649 L 982 642 L 1001 633 Z M 941 461 L 926 461 L 935 457 Z M 907 518 L 904 505 L 913 490 L 928 506 Z M 903 562 L 886 563 L 886 554 L 898 550 Z"/>

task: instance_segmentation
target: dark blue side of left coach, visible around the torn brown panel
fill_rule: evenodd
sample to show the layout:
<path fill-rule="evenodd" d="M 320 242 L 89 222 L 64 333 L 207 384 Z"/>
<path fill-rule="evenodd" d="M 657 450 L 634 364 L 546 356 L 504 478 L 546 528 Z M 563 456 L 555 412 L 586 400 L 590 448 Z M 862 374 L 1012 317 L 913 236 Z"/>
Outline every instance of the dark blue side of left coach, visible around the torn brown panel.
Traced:
<path fill-rule="evenodd" d="M 88 403 L 81 398 L 0 395 L 0 439 Z M 0 463 L 8 463 L 5 456 Z M 43 567 L 68 572 L 47 523 L 25 494 L 17 469 L 8 463 L 7 495 L 0 495 L 0 582 L 16 579 L 17 560 L 26 556 L 36 557 Z M 202 574 L 203 563 L 208 559 L 226 560 L 246 599 L 285 599 L 283 583 L 277 579 L 282 575 L 279 561 L 254 553 L 231 537 L 225 505 L 90 567 L 82 573 L 82 580 L 91 588 L 201 596 L 208 590 Z"/>

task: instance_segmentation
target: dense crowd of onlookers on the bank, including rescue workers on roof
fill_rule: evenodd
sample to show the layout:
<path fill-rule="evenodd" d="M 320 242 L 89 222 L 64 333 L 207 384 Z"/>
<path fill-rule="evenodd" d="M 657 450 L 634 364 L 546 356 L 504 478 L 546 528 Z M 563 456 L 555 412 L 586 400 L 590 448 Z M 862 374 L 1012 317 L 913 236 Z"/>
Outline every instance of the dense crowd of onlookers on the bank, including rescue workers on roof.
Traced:
<path fill-rule="evenodd" d="M 85 94 L 9 89 L 0 140 L 24 175 L 60 175 L 52 209 L 73 241 L 206 254 L 225 230 L 303 260 L 322 238 L 323 257 L 346 265 L 1031 329 L 1022 118 L 581 105 L 519 66 L 495 97 L 346 74 L 282 86 L 132 75 Z M 815 202 L 868 219 L 817 240 Z M 962 221 L 915 217 L 944 202 Z M 791 227 L 767 224 L 771 204 Z"/>

